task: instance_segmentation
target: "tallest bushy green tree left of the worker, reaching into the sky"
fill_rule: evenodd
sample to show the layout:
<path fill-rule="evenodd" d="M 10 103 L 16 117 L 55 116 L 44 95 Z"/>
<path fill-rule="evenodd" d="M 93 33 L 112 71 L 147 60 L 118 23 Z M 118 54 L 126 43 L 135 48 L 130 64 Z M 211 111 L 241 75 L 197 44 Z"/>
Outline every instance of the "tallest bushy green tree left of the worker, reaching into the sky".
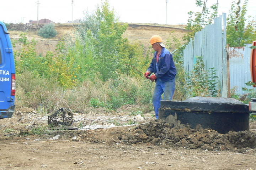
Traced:
<path fill-rule="evenodd" d="M 67 46 L 68 51 L 76 53 L 75 61 L 81 66 L 80 81 L 93 79 L 94 74 L 100 75 L 104 81 L 115 80 L 120 73 L 138 77 L 137 72 L 124 67 L 124 64 L 142 68 L 145 65 L 143 61 L 148 62 L 142 57 L 143 47 L 138 43 L 130 44 L 123 37 L 128 24 L 119 23 L 108 1 L 102 2 L 95 14 L 87 13 L 82 23 L 78 27 L 75 43 Z"/>

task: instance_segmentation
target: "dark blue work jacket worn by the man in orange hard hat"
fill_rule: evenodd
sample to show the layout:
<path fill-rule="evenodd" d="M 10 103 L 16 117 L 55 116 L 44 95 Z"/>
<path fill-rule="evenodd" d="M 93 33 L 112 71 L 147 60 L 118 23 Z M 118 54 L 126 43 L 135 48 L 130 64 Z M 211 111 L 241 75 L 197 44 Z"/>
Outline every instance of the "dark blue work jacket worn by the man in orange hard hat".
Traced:
<path fill-rule="evenodd" d="M 154 58 L 150 63 L 148 71 L 150 73 L 155 73 L 155 77 L 160 79 L 162 82 L 174 79 L 177 71 L 170 51 L 165 49 L 165 47 L 162 47 L 157 64 L 158 71 L 156 69 L 156 53 L 157 51 L 154 53 Z"/>

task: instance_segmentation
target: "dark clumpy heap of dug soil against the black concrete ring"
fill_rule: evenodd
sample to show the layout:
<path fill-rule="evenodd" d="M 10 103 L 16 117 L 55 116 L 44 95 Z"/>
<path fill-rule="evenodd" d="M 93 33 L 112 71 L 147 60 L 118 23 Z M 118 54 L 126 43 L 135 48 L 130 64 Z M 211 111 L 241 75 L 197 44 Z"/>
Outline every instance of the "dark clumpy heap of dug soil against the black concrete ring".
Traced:
<path fill-rule="evenodd" d="M 245 148 L 255 148 L 255 132 L 241 131 L 219 134 L 212 129 L 191 129 L 171 127 L 164 121 L 151 121 L 138 126 L 148 136 L 146 142 L 154 145 L 171 145 L 184 148 L 201 148 L 203 150 L 232 150 L 244 152 Z"/>

